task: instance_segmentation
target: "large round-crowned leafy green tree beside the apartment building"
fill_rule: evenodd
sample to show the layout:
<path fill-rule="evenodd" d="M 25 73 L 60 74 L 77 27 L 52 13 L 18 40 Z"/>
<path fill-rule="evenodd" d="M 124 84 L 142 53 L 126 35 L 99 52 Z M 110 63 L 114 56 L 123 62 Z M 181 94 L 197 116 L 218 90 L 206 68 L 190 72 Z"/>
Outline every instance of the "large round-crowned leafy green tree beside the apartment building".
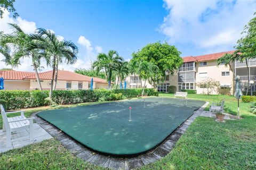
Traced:
<path fill-rule="evenodd" d="M 151 75 L 150 81 L 156 88 L 157 83 L 165 78 L 166 71 L 171 75 L 179 69 L 183 63 L 180 57 L 181 52 L 175 46 L 171 46 L 166 42 L 148 44 L 137 53 L 132 54 L 132 62 L 139 63 L 140 61 L 147 61 L 154 63 L 158 70 Z"/>

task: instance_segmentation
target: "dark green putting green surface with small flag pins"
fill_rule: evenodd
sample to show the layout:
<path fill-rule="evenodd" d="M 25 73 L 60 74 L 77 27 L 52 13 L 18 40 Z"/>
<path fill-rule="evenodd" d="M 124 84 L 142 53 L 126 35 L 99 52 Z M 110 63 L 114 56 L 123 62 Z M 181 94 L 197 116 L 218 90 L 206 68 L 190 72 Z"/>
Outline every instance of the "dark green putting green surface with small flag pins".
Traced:
<path fill-rule="evenodd" d="M 144 102 L 145 106 L 144 107 Z M 154 148 L 204 101 L 150 97 L 38 113 L 83 145 L 107 154 L 133 155 Z M 129 122 L 129 107 L 131 120 Z"/>

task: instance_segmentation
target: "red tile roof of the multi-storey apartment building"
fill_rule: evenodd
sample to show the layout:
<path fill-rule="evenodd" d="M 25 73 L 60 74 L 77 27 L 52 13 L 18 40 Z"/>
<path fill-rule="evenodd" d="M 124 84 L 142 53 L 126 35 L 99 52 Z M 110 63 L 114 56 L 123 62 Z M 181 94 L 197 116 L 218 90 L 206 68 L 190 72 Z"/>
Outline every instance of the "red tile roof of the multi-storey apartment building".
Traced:
<path fill-rule="evenodd" d="M 205 61 L 211 61 L 211 60 L 217 60 L 220 58 L 222 55 L 228 53 L 232 54 L 234 53 L 235 50 L 231 50 L 228 52 L 221 52 L 221 53 L 213 53 L 213 54 L 205 54 L 205 55 L 198 55 L 198 56 L 187 56 L 187 57 L 182 57 L 183 62 L 205 62 Z"/>

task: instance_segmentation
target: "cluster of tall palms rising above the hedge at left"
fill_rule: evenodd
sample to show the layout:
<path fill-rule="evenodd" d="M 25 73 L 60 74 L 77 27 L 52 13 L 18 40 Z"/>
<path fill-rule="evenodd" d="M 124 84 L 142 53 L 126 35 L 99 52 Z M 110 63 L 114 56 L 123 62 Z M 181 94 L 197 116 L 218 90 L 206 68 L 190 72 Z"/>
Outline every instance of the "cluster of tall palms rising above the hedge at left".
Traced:
<path fill-rule="evenodd" d="M 17 24 L 10 26 L 13 28 L 11 34 L 0 34 L 0 53 L 5 56 L 3 61 L 15 68 L 20 65 L 21 58 L 30 58 L 38 86 L 42 90 L 38 69 L 41 68 L 41 60 L 45 60 L 47 66 L 51 66 L 53 70 L 49 96 L 51 98 L 57 84 L 59 64 L 74 64 L 78 47 L 71 41 L 58 40 L 53 32 L 44 28 L 37 29 L 34 34 L 27 34 Z"/>

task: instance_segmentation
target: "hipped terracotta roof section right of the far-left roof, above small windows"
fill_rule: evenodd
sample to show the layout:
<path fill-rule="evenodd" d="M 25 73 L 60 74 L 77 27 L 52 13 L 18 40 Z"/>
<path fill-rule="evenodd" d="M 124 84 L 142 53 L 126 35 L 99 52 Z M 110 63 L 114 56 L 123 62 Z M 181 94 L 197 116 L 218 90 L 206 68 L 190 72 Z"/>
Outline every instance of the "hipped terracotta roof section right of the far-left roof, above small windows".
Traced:
<path fill-rule="evenodd" d="M 25 79 L 36 79 L 35 74 L 27 76 Z M 46 71 L 43 73 L 39 73 L 39 79 L 41 80 L 51 80 L 52 79 L 52 71 Z M 66 81 L 91 81 L 91 77 L 74 73 L 66 70 L 58 71 L 58 80 L 66 80 Z M 107 83 L 106 80 L 100 78 L 93 78 L 94 82 Z"/>

